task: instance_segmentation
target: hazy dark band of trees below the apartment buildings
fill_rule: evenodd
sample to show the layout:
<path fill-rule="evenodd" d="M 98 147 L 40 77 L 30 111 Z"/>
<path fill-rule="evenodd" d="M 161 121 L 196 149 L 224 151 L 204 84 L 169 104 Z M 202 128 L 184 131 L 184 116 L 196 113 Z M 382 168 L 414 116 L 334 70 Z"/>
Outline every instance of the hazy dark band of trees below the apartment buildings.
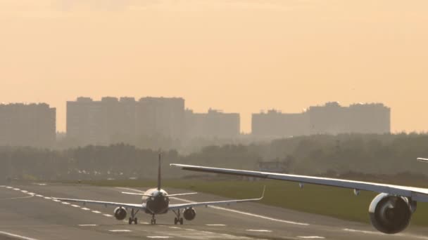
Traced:
<path fill-rule="evenodd" d="M 157 154 L 158 149 L 125 144 L 63 150 L 0 147 L 0 175 L 28 180 L 152 179 Z M 428 135 L 312 135 L 249 145 L 210 145 L 191 154 L 168 150 L 163 152 L 163 173 L 165 178 L 195 175 L 170 168 L 170 163 L 258 170 L 259 161 L 287 161 L 289 173 L 425 178 L 428 166 L 415 161 L 418 156 L 428 156 Z"/>

